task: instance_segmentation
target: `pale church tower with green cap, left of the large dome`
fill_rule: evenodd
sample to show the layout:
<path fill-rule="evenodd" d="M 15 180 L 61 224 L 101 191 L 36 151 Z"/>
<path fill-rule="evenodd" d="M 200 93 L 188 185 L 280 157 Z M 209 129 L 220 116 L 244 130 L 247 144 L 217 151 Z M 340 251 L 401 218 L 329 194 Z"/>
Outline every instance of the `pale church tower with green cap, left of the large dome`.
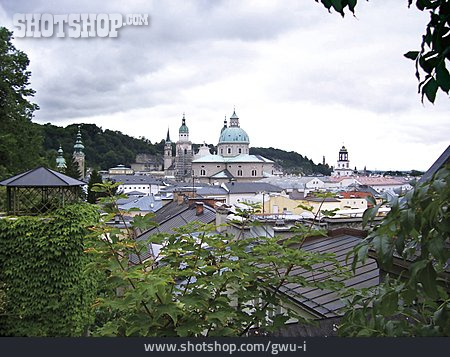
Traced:
<path fill-rule="evenodd" d="M 175 156 L 175 178 L 177 181 L 190 181 L 192 178 L 192 142 L 189 141 L 189 128 L 183 113 L 181 126 L 178 130 Z"/>

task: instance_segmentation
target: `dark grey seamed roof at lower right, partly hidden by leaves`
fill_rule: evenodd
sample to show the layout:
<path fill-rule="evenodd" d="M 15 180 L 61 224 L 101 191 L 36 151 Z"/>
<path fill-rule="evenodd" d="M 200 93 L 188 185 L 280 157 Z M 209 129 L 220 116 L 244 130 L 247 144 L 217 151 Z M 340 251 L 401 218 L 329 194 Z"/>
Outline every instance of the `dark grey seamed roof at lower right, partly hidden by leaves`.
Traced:
<path fill-rule="evenodd" d="M 347 234 L 338 237 L 313 238 L 308 239 L 301 249 L 322 253 L 334 253 L 336 254 L 336 259 L 344 266 L 347 265 L 347 253 L 360 241 L 361 238 Z M 351 262 L 348 262 L 348 264 L 351 264 Z M 326 265 L 321 265 L 321 267 L 324 266 Z M 307 280 L 315 279 L 316 281 L 318 279 L 328 279 L 331 274 L 331 272 L 320 273 L 313 276 L 311 272 L 300 268 L 291 271 L 291 275 L 301 275 Z M 380 271 L 376 261 L 369 258 L 364 264 L 359 263 L 355 273 L 346 278 L 343 283 L 346 287 L 367 288 L 378 285 L 379 275 Z M 321 318 L 340 316 L 339 309 L 344 306 L 339 294 L 328 290 L 311 287 L 302 288 L 295 284 L 285 284 L 280 288 L 280 291 L 288 295 L 296 304 Z"/>

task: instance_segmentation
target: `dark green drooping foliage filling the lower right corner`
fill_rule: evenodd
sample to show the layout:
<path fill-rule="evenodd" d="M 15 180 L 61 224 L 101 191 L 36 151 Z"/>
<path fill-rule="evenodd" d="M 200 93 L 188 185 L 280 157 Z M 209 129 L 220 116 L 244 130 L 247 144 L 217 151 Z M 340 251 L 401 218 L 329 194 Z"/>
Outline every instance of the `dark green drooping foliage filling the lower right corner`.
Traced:
<path fill-rule="evenodd" d="M 353 267 L 373 249 L 381 269 L 392 269 L 394 259 L 409 268 L 400 276 L 388 275 L 377 287 L 353 292 L 341 335 L 450 336 L 449 181 L 447 167 L 432 181 L 391 200 L 390 213 L 355 247 Z M 366 221 L 378 208 L 366 211 Z"/>

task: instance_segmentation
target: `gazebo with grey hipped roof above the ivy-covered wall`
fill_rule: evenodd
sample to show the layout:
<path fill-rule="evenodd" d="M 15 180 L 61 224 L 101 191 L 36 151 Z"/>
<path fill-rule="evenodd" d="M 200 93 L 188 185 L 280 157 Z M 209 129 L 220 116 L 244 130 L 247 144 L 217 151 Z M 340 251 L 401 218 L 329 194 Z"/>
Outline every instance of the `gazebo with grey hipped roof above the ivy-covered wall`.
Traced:
<path fill-rule="evenodd" d="M 85 184 L 42 166 L 0 182 L 6 186 L 7 212 L 11 215 L 36 215 L 64 207 L 81 198 Z"/>

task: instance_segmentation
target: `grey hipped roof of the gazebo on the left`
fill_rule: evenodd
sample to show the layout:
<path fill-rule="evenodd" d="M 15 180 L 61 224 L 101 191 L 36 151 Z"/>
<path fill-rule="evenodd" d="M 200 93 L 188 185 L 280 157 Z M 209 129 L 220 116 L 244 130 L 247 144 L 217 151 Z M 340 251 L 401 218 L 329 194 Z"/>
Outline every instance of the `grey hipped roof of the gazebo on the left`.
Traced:
<path fill-rule="evenodd" d="M 7 187 L 70 187 L 86 183 L 46 167 L 38 167 L 0 182 Z"/>

